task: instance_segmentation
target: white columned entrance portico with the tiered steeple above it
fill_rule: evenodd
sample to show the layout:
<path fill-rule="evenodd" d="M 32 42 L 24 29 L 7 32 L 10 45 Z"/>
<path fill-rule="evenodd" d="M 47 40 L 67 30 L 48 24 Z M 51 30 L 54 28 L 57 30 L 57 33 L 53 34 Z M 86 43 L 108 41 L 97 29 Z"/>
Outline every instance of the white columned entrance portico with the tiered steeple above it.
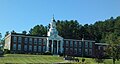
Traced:
<path fill-rule="evenodd" d="M 63 53 L 63 38 L 58 35 L 54 17 L 50 23 L 50 29 L 47 35 L 47 51 L 51 52 L 52 54 Z"/>

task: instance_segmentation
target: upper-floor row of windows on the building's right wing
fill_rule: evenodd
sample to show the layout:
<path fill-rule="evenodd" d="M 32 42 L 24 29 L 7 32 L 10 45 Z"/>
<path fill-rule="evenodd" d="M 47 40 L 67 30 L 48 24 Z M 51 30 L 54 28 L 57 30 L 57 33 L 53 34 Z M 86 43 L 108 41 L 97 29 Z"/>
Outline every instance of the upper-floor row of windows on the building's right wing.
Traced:
<path fill-rule="evenodd" d="M 79 43 L 79 44 L 77 44 L 77 43 Z M 73 47 L 73 41 L 70 41 L 70 43 L 69 43 L 69 41 L 66 41 L 66 46 L 68 46 L 68 45 L 70 45 L 70 47 Z M 81 47 L 82 42 L 74 41 L 74 47 L 77 47 L 77 46 Z M 92 42 L 85 42 L 85 48 L 88 48 L 88 46 L 89 46 L 89 48 L 92 48 Z"/>

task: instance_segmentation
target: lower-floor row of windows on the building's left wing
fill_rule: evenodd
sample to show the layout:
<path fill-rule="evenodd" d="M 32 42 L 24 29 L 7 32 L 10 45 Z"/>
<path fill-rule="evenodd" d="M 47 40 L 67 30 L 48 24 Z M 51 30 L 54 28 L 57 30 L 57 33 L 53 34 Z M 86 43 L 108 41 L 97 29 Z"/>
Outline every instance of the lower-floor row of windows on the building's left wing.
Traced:
<path fill-rule="evenodd" d="M 37 46 L 24 45 L 24 51 L 32 51 L 32 49 L 33 49 L 34 52 L 37 52 Z M 38 52 L 41 52 L 41 49 L 42 49 L 42 46 L 38 46 Z M 13 44 L 13 50 L 17 50 L 16 44 Z M 18 44 L 18 50 L 21 50 L 21 44 Z M 46 47 L 43 46 L 43 52 L 45 52 L 45 51 L 46 51 Z"/>

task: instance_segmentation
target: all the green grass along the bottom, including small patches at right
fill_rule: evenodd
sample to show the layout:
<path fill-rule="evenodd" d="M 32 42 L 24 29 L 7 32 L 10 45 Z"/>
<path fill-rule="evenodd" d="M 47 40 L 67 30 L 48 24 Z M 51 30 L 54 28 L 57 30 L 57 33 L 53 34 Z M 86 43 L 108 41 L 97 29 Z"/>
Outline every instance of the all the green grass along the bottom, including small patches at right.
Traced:
<path fill-rule="evenodd" d="M 78 57 L 81 63 L 81 57 Z M 0 64 L 5 63 L 19 63 L 19 64 L 26 64 L 26 63 L 66 63 L 63 60 L 63 57 L 52 56 L 52 55 L 29 55 L 29 54 L 6 54 L 4 57 L 0 57 Z M 92 58 L 85 58 L 86 64 L 98 64 Z M 69 62 L 71 63 L 71 62 Z M 104 63 L 101 64 L 112 64 L 112 59 L 106 59 Z M 116 61 L 116 64 L 120 64 L 120 61 Z"/>

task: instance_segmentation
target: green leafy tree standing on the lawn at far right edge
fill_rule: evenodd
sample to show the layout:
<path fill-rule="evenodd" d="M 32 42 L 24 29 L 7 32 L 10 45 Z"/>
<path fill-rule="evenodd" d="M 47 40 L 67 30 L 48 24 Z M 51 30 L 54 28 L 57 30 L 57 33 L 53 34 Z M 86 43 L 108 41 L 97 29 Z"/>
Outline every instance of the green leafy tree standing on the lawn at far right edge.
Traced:
<path fill-rule="evenodd" d="M 120 58 L 120 36 L 116 33 L 110 33 L 106 36 L 106 42 L 109 44 L 107 47 L 107 54 L 112 57 L 113 64 Z"/>

